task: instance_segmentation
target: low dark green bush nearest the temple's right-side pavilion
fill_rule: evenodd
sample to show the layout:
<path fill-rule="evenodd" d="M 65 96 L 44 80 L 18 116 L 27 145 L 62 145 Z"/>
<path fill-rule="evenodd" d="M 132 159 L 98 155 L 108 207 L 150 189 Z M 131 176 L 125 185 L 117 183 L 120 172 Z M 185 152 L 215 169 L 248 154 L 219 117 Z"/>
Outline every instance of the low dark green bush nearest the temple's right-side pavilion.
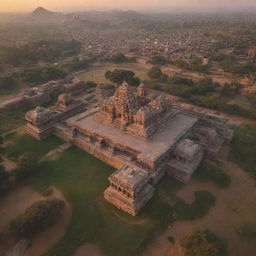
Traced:
<path fill-rule="evenodd" d="M 203 181 L 212 181 L 221 188 L 227 188 L 231 181 L 228 174 L 222 169 L 206 162 L 201 163 L 194 177 Z"/>

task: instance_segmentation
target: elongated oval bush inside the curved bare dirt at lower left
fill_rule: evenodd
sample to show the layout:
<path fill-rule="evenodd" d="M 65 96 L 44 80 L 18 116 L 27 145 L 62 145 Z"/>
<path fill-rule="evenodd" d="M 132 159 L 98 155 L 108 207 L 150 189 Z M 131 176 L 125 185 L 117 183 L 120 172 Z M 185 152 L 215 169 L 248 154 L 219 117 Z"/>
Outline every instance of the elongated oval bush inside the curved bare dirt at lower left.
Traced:
<path fill-rule="evenodd" d="M 9 225 L 11 234 L 28 237 L 50 227 L 63 210 L 65 202 L 59 199 L 42 200 L 32 204 Z"/>

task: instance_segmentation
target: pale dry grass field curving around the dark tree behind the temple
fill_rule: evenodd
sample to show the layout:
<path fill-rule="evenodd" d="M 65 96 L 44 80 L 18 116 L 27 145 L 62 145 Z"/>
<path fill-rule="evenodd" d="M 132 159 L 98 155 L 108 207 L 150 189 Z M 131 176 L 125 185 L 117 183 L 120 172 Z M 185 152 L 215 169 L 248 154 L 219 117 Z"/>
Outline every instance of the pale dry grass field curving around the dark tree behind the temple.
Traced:
<path fill-rule="evenodd" d="M 78 78 L 86 81 L 94 81 L 96 83 L 110 83 L 109 80 L 105 78 L 105 72 L 108 70 L 113 71 L 114 69 L 127 69 L 131 70 L 138 76 L 140 79 L 147 79 L 147 69 L 140 67 L 133 63 L 128 64 L 113 64 L 108 63 L 103 66 L 92 68 L 91 70 L 85 71 L 78 75 Z"/>

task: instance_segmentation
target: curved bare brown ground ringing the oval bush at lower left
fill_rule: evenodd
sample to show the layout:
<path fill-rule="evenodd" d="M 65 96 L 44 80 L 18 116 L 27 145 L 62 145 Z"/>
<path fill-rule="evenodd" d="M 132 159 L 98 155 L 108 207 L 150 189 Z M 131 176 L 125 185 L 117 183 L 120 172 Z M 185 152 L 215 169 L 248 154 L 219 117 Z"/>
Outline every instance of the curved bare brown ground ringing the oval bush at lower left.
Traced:
<path fill-rule="evenodd" d="M 24 256 L 39 256 L 47 252 L 55 243 L 57 243 L 65 233 L 65 228 L 72 215 L 70 204 L 63 198 L 62 194 L 55 187 L 51 188 L 53 193 L 50 197 L 59 198 L 65 201 L 63 214 L 57 222 L 49 229 L 33 236 L 30 248 Z M 27 207 L 39 200 L 45 200 L 39 192 L 30 186 L 19 187 L 8 193 L 0 200 L 0 230 L 6 227 L 8 223 L 19 214 L 23 213 Z M 9 245 L 0 246 L 0 255 L 9 250 Z"/>

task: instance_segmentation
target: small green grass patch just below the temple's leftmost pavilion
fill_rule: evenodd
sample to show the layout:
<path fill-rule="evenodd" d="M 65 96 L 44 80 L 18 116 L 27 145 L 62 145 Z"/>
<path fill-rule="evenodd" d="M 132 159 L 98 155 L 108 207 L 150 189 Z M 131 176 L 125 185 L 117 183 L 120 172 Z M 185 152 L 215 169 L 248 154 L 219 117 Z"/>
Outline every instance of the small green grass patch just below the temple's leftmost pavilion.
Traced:
<path fill-rule="evenodd" d="M 14 160 L 26 152 L 34 152 L 41 158 L 51 149 L 63 143 L 62 140 L 54 136 L 46 138 L 42 143 L 27 134 L 23 136 L 15 134 L 7 140 L 11 142 L 7 148 L 8 157 Z"/>

